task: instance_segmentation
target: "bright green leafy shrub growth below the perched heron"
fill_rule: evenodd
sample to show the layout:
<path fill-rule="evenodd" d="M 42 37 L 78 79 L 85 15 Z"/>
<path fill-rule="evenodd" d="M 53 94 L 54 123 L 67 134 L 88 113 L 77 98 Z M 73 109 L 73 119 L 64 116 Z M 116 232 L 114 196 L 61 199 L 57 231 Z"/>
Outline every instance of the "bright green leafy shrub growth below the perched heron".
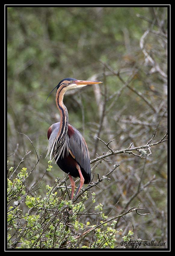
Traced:
<path fill-rule="evenodd" d="M 28 177 L 26 170 L 27 168 L 21 169 L 15 179 L 8 179 L 8 248 L 15 245 L 18 245 L 16 248 L 114 248 L 115 236 L 119 232 L 121 234 L 121 230 L 112 228 L 117 223 L 115 220 L 103 224 L 108 218 L 104 213 L 100 214 L 103 226 L 94 229 L 97 239 L 91 243 L 91 247 L 83 245 L 85 234 L 82 244 L 82 239 L 79 241 L 75 237 L 79 232 L 84 233 L 96 226 L 90 225 L 89 221 L 85 224 L 79 222 L 83 216 L 81 213 L 87 212 L 84 206 L 84 201 L 88 200 L 87 192 L 74 204 L 71 200 L 66 200 L 66 195 L 58 196 L 63 188 L 53 192 L 53 187 L 49 185 L 46 185 L 47 193 L 44 198 L 41 195 L 32 197 L 24 185 Z M 93 204 L 94 196 L 95 193 Z M 14 206 L 9 206 L 12 202 Z M 29 208 L 25 215 L 19 207 L 22 202 Z M 95 206 L 95 214 L 98 214 L 97 210 L 103 210 L 102 204 Z"/>

